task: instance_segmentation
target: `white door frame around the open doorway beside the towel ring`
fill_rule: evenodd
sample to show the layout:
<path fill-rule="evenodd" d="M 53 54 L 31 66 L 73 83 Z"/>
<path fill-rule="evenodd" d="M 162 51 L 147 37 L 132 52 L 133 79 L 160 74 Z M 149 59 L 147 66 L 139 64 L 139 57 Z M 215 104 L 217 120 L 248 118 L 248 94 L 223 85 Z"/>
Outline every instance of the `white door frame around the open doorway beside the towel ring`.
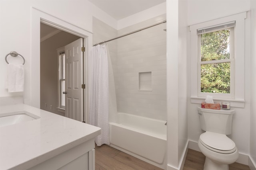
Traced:
<path fill-rule="evenodd" d="M 31 17 L 31 91 L 30 99 L 26 103 L 31 106 L 40 108 L 40 23 L 50 25 L 62 31 L 84 38 L 84 84 L 88 85 L 87 59 L 89 47 L 92 47 L 92 32 L 69 23 L 51 14 L 32 7 Z M 84 90 L 84 121 L 88 123 L 88 88 Z"/>

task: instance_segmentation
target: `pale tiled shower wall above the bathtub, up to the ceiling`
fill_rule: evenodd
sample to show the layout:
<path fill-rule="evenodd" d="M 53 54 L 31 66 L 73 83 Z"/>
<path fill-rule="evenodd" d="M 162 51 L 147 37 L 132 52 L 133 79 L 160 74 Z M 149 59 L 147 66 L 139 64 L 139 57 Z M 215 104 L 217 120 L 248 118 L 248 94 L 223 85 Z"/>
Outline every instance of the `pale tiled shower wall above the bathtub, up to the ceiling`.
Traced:
<path fill-rule="evenodd" d="M 106 23 L 93 18 L 93 43 L 147 27 L 166 19 L 158 16 L 116 31 Z M 117 110 L 124 113 L 166 120 L 166 24 L 108 42 Z M 151 72 L 140 81 L 151 83 L 148 91 L 139 90 L 139 72 Z M 150 82 L 149 82 L 150 81 Z M 145 90 L 145 89 L 144 89 Z"/>

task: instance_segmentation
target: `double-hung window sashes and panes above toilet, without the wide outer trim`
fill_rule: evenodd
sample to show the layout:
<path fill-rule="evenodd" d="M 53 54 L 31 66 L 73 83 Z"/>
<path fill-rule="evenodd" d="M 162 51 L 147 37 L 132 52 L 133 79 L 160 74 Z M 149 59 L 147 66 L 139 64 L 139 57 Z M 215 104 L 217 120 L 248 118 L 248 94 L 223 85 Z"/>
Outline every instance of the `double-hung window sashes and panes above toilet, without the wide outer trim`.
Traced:
<path fill-rule="evenodd" d="M 234 68 L 234 26 L 235 22 L 230 22 L 197 30 L 200 43 L 198 96 L 234 93 L 234 74 L 230 74 Z"/>

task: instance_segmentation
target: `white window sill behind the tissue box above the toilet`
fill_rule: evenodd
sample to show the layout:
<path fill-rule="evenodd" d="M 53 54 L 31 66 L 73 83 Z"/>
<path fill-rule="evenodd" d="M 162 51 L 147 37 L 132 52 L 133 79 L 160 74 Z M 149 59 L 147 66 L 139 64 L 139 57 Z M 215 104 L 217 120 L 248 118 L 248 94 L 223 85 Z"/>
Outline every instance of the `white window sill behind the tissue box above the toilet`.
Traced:
<path fill-rule="evenodd" d="M 221 102 L 230 102 L 231 107 L 241 107 L 244 108 L 244 100 L 236 100 L 236 99 L 220 99 L 220 98 L 213 98 L 215 103 L 220 103 Z M 197 97 L 197 96 L 191 96 L 190 97 L 190 102 L 195 103 L 195 104 L 201 104 L 202 102 L 205 101 L 204 97 Z"/>

